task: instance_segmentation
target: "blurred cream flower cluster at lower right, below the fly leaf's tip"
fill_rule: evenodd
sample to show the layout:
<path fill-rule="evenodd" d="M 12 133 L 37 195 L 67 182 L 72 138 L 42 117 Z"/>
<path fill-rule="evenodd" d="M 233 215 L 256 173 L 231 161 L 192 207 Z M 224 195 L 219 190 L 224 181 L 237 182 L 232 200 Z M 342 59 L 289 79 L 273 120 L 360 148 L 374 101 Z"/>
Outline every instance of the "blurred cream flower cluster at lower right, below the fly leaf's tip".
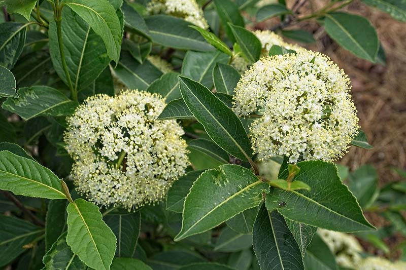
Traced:
<path fill-rule="evenodd" d="M 360 252 L 363 249 L 355 237 L 321 228 L 317 230 L 317 233 L 335 255 L 337 264 L 348 268 L 358 267 L 362 261 Z"/>

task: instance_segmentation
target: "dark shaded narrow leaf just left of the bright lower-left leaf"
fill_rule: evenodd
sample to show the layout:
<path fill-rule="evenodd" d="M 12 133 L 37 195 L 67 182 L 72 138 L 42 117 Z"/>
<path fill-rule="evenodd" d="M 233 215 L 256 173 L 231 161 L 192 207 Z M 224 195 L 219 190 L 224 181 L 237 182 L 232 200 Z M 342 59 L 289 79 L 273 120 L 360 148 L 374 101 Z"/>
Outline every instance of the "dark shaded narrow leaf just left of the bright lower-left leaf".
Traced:
<path fill-rule="evenodd" d="M 63 232 L 65 232 L 66 230 L 65 213 L 66 213 L 65 200 L 49 201 L 45 222 L 45 251 L 49 251 L 52 245 L 57 241 L 59 236 Z"/>

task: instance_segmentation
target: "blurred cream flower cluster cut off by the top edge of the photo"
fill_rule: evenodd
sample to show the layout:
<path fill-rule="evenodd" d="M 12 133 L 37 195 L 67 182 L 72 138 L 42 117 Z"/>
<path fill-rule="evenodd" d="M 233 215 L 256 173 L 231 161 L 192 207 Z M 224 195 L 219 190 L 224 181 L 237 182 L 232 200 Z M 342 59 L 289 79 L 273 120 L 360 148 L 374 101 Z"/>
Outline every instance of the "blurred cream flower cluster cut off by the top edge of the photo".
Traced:
<path fill-rule="evenodd" d="M 148 14 L 169 14 L 201 28 L 209 28 L 203 11 L 196 0 L 151 0 L 147 4 L 147 12 Z"/>

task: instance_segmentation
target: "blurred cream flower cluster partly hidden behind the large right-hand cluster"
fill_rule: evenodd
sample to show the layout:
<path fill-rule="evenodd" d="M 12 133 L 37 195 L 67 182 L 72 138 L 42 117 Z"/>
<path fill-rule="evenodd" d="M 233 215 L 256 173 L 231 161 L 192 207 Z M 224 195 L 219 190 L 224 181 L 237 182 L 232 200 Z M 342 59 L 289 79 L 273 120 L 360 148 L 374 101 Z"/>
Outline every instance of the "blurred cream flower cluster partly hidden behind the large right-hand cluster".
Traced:
<path fill-rule="evenodd" d="M 284 47 L 285 49 L 288 50 L 294 50 L 296 52 L 305 50 L 304 48 L 298 45 L 289 44 L 285 42 L 281 36 L 274 33 L 273 31 L 256 30 L 253 33 L 258 37 L 258 40 L 261 42 L 262 45 L 261 56 L 268 55 L 269 49 L 274 45 Z M 250 62 L 248 62 L 244 57 L 240 55 L 236 56 L 231 62 L 231 65 L 239 72 L 244 72 L 245 70 L 247 70 L 249 64 Z"/>

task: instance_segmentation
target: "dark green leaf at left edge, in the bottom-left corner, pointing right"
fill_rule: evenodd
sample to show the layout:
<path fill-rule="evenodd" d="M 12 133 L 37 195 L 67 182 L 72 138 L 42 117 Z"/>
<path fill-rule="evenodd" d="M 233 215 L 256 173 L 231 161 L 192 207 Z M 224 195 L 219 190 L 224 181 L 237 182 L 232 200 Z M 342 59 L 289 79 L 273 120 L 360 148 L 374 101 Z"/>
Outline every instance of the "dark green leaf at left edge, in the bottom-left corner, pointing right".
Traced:
<path fill-rule="evenodd" d="M 1 153 L 1 152 L 0 152 Z M 0 267 L 12 262 L 26 251 L 23 248 L 44 234 L 32 223 L 12 216 L 0 215 Z"/>

